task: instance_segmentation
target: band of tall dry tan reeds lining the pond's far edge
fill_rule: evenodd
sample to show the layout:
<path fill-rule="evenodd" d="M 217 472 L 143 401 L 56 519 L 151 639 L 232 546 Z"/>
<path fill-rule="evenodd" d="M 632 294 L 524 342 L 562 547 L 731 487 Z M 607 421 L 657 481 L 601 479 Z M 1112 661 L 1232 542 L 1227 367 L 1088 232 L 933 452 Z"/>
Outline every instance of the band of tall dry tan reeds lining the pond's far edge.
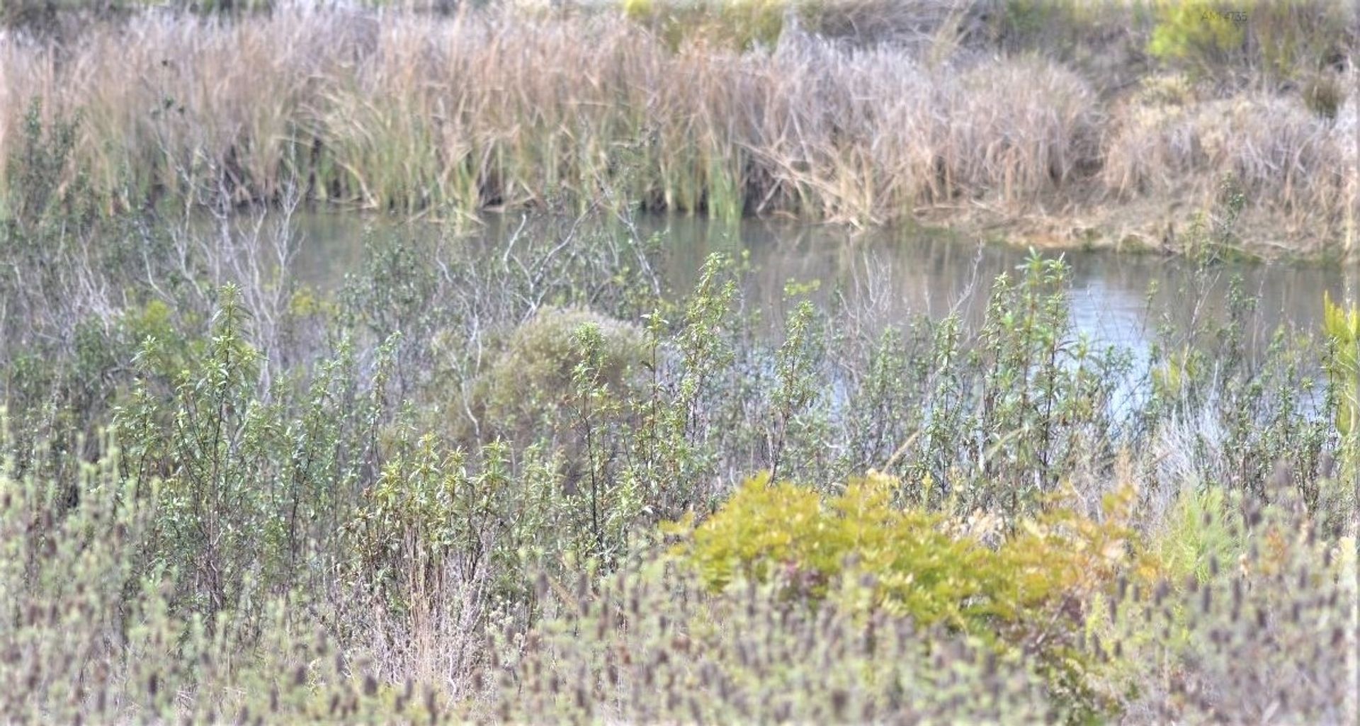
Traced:
<path fill-rule="evenodd" d="M 787 27 L 738 48 L 612 11 L 290 4 L 5 30 L 0 155 L 37 102 L 80 118 L 69 175 L 107 209 L 272 201 L 306 179 L 316 198 L 407 212 L 611 198 L 885 224 L 1208 203 L 1232 177 L 1254 208 L 1333 239 L 1355 207 L 1344 82 L 1333 117 L 1299 92 L 1123 102 L 1051 53 L 979 53 L 921 23 L 913 42 Z"/>

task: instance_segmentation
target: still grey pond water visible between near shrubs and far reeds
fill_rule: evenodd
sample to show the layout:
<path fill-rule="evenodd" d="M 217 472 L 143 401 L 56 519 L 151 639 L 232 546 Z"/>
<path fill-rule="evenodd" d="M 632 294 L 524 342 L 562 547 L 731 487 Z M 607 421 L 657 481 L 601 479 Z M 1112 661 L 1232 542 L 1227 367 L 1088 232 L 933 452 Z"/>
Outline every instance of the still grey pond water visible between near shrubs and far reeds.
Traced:
<path fill-rule="evenodd" d="M 375 222 L 344 213 L 295 218 L 301 232 L 296 272 L 320 287 L 332 287 L 362 258 L 363 235 L 435 234 L 428 224 Z M 488 218 L 475 232 L 495 245 L 520 218 Z M 710 253 L 745 250 L 752 262 L 748 300 L 771 325 L 786 313 L 787 281 L 817 281 L 815 296 L 835 296 L 864 311 L 873 325 L 900 322 L 914 314 L 940 317 L 957 309 L 970 322 L 981 319 L 993 280 L 1021 265 L 1028 256 L 1013 247 L 979 245 L 938 235 L 884 231 L 851 234 L 838 227 L 796 223 L 710 223 L 700 218 L 647 218 L 643 234 L 664 235 L 664 273 L 677 292 L 692 288 Z M 1058 253 L 1046 253 L 1055 256 Z M 1322 294 L 1342 296 L 1346 280 L 1340 265 L 1221 264 L 1197 276 L 1182 258 L 1108 252 L 1066 252 L 1072 265 L 1072 321 L 1099 344 L 1145 351 L 1156 328 L 1178 326 L 1223 314 L 1229 280 L 1240 276 L 1257 300 L 1248 349 L 1259 352 L 1277 326 L 1316 330 Z M 1352 269 L 1352 286 L 1355 286 Z"/>

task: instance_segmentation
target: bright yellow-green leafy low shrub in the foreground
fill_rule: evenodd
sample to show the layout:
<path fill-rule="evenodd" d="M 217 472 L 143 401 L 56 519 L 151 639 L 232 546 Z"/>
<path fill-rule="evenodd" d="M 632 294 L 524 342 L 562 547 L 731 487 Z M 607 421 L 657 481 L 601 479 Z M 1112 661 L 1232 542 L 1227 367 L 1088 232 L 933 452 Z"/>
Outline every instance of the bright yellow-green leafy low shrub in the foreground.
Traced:
<path fill-rule="evenodd" d="M 820 601 L 845 597 L 845 582 L 865 583 L 842 605 L 868 604 L 923 628 L 1024 651 L 1068 708 L 1099 711 L 1078 676 L 1091 663 L 1065 632 L 1076 627 L 1077 604 L 1108 590 L 1115 576 L 1151 572 L 1126 523 L 1132 492 L 1108 495 L 1103 521 L 1054 507 L 989 545 L 976 533 L 951 532 L 960 528 L 942 515 L 895 507 L 896 489 L 872 474 L 823 498 L 755 477 L 687 536 L 680 553 L 715 590 L 733 581 L 777 582 L 783 597 Z M 968 529 L 985 521 L 974 517 Z"/>

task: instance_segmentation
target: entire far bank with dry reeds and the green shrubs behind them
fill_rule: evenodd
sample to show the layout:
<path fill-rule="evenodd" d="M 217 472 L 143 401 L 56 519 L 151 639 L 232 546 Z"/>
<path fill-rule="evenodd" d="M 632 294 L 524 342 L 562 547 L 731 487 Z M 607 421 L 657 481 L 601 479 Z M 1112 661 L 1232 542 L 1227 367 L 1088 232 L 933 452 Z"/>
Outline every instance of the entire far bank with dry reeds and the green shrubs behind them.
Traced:
<path fill-rule="evenodd" d="M 301 185 L 441 215 L 627 200 L 1176 250 L 1240 196 L 1232 243 L 1336 252 L 1353 10 L 1238 5 L 124 10 L 0 31 L 0 154 L 24 154 L 30 111 L 79 120 L 64 184 L 105 212 Z"/>

